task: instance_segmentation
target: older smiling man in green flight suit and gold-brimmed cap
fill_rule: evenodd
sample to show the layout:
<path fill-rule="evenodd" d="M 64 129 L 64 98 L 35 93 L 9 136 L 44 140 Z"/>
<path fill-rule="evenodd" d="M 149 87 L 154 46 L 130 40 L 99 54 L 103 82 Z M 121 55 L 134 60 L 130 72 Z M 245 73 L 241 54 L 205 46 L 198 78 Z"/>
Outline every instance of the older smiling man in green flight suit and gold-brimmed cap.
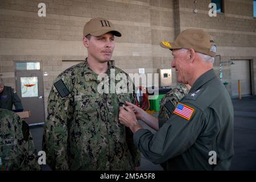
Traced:
<path fill-rule="evenodd" d="M 234 154 L 234 112 L 228 91 L 213 71 L 212 36 L 189 28 L 174 43 L 160 46 L 172 51 L 177 81 L 191 85 L 189 93 L 168 120 L 143 120 L 136 107 L 120 107 L 119 120 L 130 127 L 135 145 L 155 164 L 167 162 L 169 170 L 228 170 Z M 158 131 L 144 130 L 137 119 Z"/>

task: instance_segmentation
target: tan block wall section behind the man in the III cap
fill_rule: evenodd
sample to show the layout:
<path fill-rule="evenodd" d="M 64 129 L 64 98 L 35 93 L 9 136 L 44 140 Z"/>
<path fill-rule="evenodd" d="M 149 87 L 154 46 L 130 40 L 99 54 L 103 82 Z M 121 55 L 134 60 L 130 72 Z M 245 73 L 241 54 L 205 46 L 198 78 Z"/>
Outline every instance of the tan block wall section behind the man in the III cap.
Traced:
<path fill-rule="evenodd" d="M 38 4 L 46 3 L 46 17 Z M 127 73 L 152 72 L 150 1 L 0 1 L 0 63 L 6 85 L 15 88 L 14 60 L 41 61 L 44 98 L 59 75 L 62 60 L 84 60 L 82 27 L 93 17 L 111 20 L 122 32 L 113 55 Z"/>

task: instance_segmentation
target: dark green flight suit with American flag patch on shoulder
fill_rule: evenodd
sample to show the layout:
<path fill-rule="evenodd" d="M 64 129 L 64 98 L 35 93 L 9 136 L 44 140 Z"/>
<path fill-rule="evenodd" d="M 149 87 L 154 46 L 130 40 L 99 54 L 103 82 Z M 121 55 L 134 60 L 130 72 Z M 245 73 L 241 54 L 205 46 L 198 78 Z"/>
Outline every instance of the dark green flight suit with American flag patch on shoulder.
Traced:
<path fill-rule="evenodd" d="M 178 104 L 168 121 L 159 119 L 160 129 L 154 135 L 138 130 L 135 145 L 151 162 L 168 162 L 168 170 L 228 170 L 234 154 L 233 105 L 213 69 L 196 80 L 180 103 L 193 110 L 187 113 L 190 119 L 184 118 L 184 110 L 175 114 L 183 107 Z"/>

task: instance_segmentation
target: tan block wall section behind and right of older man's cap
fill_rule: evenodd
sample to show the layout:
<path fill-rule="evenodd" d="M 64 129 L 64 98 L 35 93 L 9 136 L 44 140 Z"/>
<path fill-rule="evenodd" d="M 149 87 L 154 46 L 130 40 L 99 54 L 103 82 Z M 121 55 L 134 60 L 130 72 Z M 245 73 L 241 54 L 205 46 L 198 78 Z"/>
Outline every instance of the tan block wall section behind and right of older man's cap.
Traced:
<path fill-rule="evenodd" d="M 234 60 L 252 60 L 255 64 L 256 19 L 253 18 L 253 1 L 224 0 L 224 13 L 217 13 L 216 17 L 208 15 L 210 0 L 197 1 L 196 5 L 194 1 L 177 2 L 181 31 L 187 28 L 201 28 L 209 32 L 217 44 L 217 55 L 221 56 L 221 61 L 228 61 L 232 57 Z M 197 14 L 193 13 L 195 7 Z M 218 72 L 219 63 L 214 64 L 214 69 Z M 222 70 L 223 81 L 230 83 L 230 65 L 223 65 Z M 255 73 L 255 70 L 252 72 Z M 255 85 L 255 81 L 255 78 L 251 77 L 252 85 Z M 228 86 L 231 94 L 230 89 L 231 85 Z"/>

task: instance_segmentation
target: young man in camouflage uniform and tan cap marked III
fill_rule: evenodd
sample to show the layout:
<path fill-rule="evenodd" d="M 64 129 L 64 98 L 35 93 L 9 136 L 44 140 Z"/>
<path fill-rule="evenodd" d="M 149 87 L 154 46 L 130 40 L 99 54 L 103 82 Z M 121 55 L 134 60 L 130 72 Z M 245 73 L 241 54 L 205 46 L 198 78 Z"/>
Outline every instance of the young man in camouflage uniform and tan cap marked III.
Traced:
<path fill-rule="evenodd" d="M 106 66 L 103 73 L 108 76 L 114 69 L 115 76 L 123 73 L 130 79 L 108 63 L 114 35 L 121 36 L 106 19 L 94 18 L 86 23 L 84 46 L 88 57 L 61 73 L 52 86 L 43 150 L 53 170 L 133 170 L 140 165 L 141 154 L 134 146 L 133 133 L 118 120 L 119 106 L 127 100 L 135 104 L 135 94 L 101 94 L 97 90 L 101 65 Z M 99 51 L 98 44 L 105 45 L 103 50 Z M 111 79 L 117 84 L 115 78 Z"/>

